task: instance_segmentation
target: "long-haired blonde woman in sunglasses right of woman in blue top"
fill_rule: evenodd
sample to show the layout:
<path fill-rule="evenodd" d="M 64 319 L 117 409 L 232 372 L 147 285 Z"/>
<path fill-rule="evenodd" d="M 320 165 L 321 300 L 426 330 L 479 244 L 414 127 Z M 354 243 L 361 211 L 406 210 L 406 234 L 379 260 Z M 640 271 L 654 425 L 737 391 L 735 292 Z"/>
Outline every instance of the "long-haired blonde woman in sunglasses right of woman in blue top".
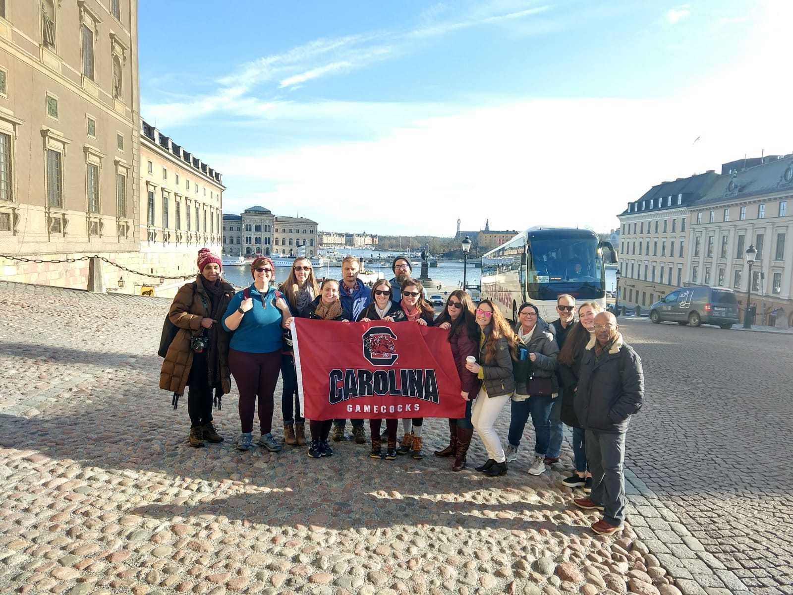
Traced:
<path fill-rule="evenodd" d="M 289 276 L 278 289 L 284 294 L 289 305 L 289 316 L 297 316 L 320 294 L 320 286 L 316 284 L 311 262 L 302 256 L 294 259 Z M 289 330 L 285 331 L 285 335 L 291 340 Z M 291 341 L 285 345 L 281 356 L 281 378 L 284 381 L 281 396 L 284 442 L 290 446 L 304 446 L 305 420 L 300 416 L 300 395 L 297 393 L 297 370 L 295 370 Z"/>

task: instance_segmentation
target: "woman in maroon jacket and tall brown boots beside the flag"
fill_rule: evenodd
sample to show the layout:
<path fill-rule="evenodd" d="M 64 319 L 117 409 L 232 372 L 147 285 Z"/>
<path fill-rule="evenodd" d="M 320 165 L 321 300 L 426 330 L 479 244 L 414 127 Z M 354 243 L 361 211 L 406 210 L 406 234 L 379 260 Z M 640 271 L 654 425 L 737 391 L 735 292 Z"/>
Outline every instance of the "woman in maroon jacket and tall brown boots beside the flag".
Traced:
<path fill-rule="evenodd" d="M 469 372 L 465 368 L 465 359 L 469 356 L 474 358 L 477 356 L 479 337 L 481 336 L 481 330 L 473 313 L 473 301 L 465 291 L 454 290 L 451 292 L 446 300 L 446 308 L 435 319 L 435 326 L 446 328 L 449 331 L 451 355 L 454 356 L 457 373 L 460 375 L 460 396 L 466 401 L 465 417 L 449 420 L 451 435 L 449 446 L 435 451 L 435 455 L 439 457 L 454 455 L 451 470 L 462 471 L 465 469 L 465 455 L 468 453 L 471 436 L 473 436 L 471 405 L 481 384 L 477 374 Z"/>

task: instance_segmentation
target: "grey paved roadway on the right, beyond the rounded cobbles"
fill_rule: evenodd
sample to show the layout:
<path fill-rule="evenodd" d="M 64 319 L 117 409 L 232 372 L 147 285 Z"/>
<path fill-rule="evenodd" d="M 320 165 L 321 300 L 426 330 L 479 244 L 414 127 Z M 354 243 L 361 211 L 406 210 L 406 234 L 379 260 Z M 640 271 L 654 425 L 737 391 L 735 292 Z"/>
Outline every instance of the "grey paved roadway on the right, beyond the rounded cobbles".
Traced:
<path fill-rule="evenodd" d="M 684 593 L 793 593 L 791 336 L 621 328 L 647 386 L 626 447 L 638 536 Z"/>

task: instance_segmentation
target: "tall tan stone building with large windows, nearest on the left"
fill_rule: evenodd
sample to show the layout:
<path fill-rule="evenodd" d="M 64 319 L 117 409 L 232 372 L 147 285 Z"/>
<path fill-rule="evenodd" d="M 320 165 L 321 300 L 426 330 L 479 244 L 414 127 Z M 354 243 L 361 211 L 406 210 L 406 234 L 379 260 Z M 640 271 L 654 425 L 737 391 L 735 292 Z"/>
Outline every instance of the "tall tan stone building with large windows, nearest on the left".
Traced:
<path fill-rule="evenodd" d="M 137 55 L 136 0 L 0 2 L 0 254 L 137 263 Z M 88 269 L 0 259 L 10 281 Z"/>

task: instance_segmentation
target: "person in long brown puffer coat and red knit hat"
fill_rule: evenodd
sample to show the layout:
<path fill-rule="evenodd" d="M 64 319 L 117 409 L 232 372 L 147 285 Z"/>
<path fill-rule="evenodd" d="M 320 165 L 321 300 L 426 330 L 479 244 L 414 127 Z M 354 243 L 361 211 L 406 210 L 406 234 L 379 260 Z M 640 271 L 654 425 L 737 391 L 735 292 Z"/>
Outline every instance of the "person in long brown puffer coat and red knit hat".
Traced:
<path fill-rule="evenodd" d="M 174 393 L 176 399 L 185 392 L 190 413 L 190 446 L 202 447 L 205 440 L 222 442 L 213 425 L 213 391 L 218 397 L 232 388 L 228 369 L 229 334 L 220 325 L 234 295 L 234 287 L 220 277 L 220 258 L 209 248 L 198 252 L 196 280 L 178 291 L 170 305 L 168 318 L 179 328 L 159 373 L 159 387 Z M 201 351 L 195 351 L 203 343 Z"/>

